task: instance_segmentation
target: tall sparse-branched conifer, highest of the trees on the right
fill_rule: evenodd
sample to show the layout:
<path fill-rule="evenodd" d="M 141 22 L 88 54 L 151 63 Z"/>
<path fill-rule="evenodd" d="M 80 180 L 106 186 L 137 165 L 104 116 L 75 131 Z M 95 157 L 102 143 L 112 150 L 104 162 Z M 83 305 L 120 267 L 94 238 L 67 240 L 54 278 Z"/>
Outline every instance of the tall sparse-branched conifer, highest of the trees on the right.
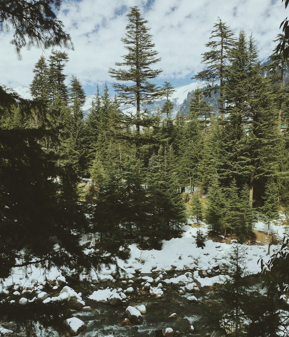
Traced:
<path fill-rule="evenodd" d="M 207 81 L 209 87 L 207 92 L 216 90 L 215 84 L 220 81 L 217 89 L 220 91 L 220 117 L 223 119 L 224 109 L 224 97 L 223 86 L 225 83 L 225 66 L 228 63 L 228 52 L 233 44 L 233 31 L 226 26 L 221 19 L 214 25 L 215 30 L 212 31 L 210 42 L 206 44 L 206 47 L 211 48 L 209 52 L 203 54 L 202 63 L 207 63 L 208 67 L 205 70 L 200 71 L 195 79 L 201 81 Z"/>

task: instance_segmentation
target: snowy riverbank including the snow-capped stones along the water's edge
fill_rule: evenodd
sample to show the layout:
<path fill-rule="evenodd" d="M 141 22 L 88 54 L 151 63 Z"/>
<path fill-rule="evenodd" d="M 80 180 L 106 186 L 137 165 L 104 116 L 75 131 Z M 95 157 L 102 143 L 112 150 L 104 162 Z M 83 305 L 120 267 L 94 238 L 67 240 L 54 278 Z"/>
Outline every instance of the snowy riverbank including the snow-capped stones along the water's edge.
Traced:
<path fill-rule="evenodd" d="M 282 220 L 281 217 L 279 221 L 270 224 L 270 231 L 280 240 L 286 230 L 286 227 L 282 225 Z M 84 274 L 79 275 L 80 280 L 86 279 L 91 283 L 91 295 L 87 297 L 76 293 L 68 285 L 66 276 L 73 274 L 74 271 L 60 271 L 57 268 L 44 271 L 36 266 L 31 266 L 27 270 L 27 274 L 22 268 L 14 268 L 11 276 L 0 283 L 0 293 L 6 297 L 5 301 L 10 301 L 10 303 L 26 305 L 34 301 L 44 304 L 56 301 L 73 301 L 80 310 L 89 311 L 91 307 L 85 304 L 88 301 L 128 305 L 131 301 L 131 294 L 138 296 L 137 294 L 144 291 L 158 299 L 166 295 L 164 293 L 166 293 L 167 287 L 177 286 L 179 295 L 184 295 L 187 301 L 195 302 L 198 299 L 190 293 L 199 290 L 200 287 L 223 283 L 228 277 L 224 265 L 228 265 L 233 246 L 233 242 L 230 240 L 221 243 L 207 240 L 204 249 L 198 248 L 195 239 L 198 228 L 201 228 L 204 234 L 207 233 L 204 223 L 200 227 L 191 226 L 191 224 L 185 225 L 182 236 L 164 241 L 161 250 L 141 250 L 136 244 L 130 245 L 130 258 L 127 261 L 118 261 L 120 276 L 116 276 L 114 267 L 104 267 L 100 273 L 93 272 L 89 278 Z M 258 221 L 255 229 L 267 233 L 267 224 Z M 271 253 L 274 253 L 279 247 L 280 245 L 272 245 Z M 246 261 L 244 265 L 246 265 L 247 273 L 257 274 L 260 272 L 258 260 L 262 257 L 264 262 L 268 261 L 270 257 L 267 255 L 268 245 L 242 245 L 242 249 L 245 250 Z M 102 288 L 101 285 L 107 281 L 116 282 L 118 286 L 116 284 L 112 286 L 109 283 L 109 287 Z M 137 285 L 140 282 L 141 286 Z M 97 283 L 100 287 L 95 287 Z M 51 293 L 54 291 L 57 294 L 51 295 L 47 289 L 50 289 Z M 197 296 L 197 294 L 195 295 Z M 287 298 L 284 300 L 289 303 Z M 136 316 L 135 313 L 134 315 Z M 85 324 L 82 324 L 81 320 L 72 318 L 65 321 L 69 331 L 77 331 L 77 333 L 83 331 Z M 136 317 L 135 319 L 140 318 Z M 0 325 L 0 334 L 2 328 Z"/>

